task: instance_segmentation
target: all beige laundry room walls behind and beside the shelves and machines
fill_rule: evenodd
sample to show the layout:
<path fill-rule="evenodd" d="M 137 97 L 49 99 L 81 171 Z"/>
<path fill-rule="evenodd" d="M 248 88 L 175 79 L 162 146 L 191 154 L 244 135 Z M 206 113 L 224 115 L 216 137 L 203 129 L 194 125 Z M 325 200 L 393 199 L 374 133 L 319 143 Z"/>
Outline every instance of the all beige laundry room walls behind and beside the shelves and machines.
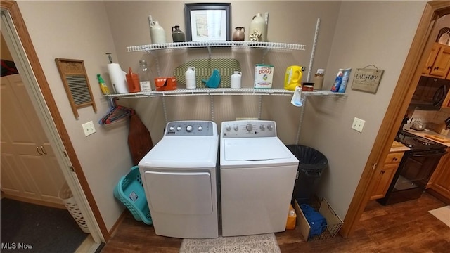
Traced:
<path fill-rule="evenodd" d="M 385 70 L 376 94 L 352 91 L 350 82 L 346 98 L 309 99 L 306 106 L 300 144 L 316 148 L 328 157 L 330 166 L 321 180 L 321 195 L 343 219 L 394 91 L 425 1 L 226 2 L 231 2 L 232 6 L 231 27 L 248 29 L 253 15 L 268 11 L 269 41 L 307 46 L 302 52 L 269 53 L 266 60 L 276 63 L 278 77 L 283 75 L 285 66 L 309 65 L 317 18 L 321 18 L 321 26 L 312 69 L 326 68 L 324 89 L 330 89 L 340 67 L 354 70 L 373 64 Z M 103 219 L 111 228 L 123 209 L 113 198 L 113 188 L 131 164 L 128 129 L 125 124 L 108 129 L 96 124 L 96 134 L 88 138 L 83 136 L 80 125 L 89 120 L 98 122 L 108 108 L 97 89 L 95 74 L 100 72 L 107 76 L 106 52 L 113 53 L 114 62 L 120 63 L 122 69 L 137 67 L 141 58 L 148 59 L 154 67 L 153 56 L 127 53 L 127 46 L 150 44 L 148 15 L 153 15 L 153 20 L 165 27 L 168 41 L 172 41 L 173 25 L 181 25 L 181 30 L 185 31 L 184 1 L 19 1 L 19 6 Z M 229 57 L 229 52 L 217 52 L 217 57 L 226 55 Z M 245 57 L 236 54 L 236 57 L 247 56 L 250 60 L 245 63 L 250 65 L 258 60 L 252 59 L 256 57 L 255 53 Z M 162 70 L 166 72 L 163 74 L 170 74 L 174 67 L 168 63 L 182 62 L 185 57 L 197 56 L 163 55 L 165 61 L 162 63 L 167 63 L 163 65 Z M 54 58 L 84 60 L 98 105 L 97 113 L 84 108 L 79 110 L 79 120 L 74 119 Z M 245 67 L 245 71 L 248 77 L 243 86 L 251 86 L 251 74 L 248 73 L 251 66 Z M 108 82 L 108 77 L 105 80 Z M 274 86 L 282 87 L 282 82 L 278 78 Z M 232 97 L 214 97 L 214 121 L 218 125 L 234 117 L 258 115 L 258 97 Z M 166 98 L 165 102 L 168 120 L 211 118 L 208 97 Z M 285 144 L 295 143 L 300 122 L 300 109 L 289 102 L 290 97 L 262 98 L 262 119 L 276 120 L 278 135 Z M 165 124 L 162 99 L 129 99 L 125 103 L 136 108 L 154 143 L 159 141 Z M 353 117 L 366 120 L 362 134 L 350 129 Z"/>

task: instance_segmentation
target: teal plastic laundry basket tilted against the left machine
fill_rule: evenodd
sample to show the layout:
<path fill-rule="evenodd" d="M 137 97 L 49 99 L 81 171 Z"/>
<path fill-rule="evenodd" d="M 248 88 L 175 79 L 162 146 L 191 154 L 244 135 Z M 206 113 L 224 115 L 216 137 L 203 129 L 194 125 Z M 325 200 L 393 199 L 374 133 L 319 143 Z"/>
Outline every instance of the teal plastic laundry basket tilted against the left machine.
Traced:
<path fill-rule="evenodd" d="M 114 196 L 129 209 L 136 221 L 142 221 L 147 225 L 153 224 L 139 167 L 131 167 L 129 173 L 120 178 L 114 188 Z"/>

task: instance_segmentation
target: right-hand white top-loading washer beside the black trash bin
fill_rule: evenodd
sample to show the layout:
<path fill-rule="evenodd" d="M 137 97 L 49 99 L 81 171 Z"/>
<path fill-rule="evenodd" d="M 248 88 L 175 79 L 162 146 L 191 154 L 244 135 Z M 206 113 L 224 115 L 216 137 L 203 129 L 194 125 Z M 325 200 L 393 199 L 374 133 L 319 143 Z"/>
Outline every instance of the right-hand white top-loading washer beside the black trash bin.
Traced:
<path fill-rule="evenodd" d="M 285 231 L 297 167 L 274 121 L 222 122 L 222 235 Z"/>

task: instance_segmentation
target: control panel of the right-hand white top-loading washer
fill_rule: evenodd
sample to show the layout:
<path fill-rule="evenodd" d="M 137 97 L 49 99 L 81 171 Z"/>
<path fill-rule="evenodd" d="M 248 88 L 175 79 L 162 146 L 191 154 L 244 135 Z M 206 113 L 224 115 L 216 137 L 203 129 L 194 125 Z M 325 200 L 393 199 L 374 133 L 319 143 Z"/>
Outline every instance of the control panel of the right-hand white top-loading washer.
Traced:
<path fill-rule="evenodd" d="M 222 122 L 222 138 L 276 137 L 276 124 L 270 120 L 236 120 Z"/>

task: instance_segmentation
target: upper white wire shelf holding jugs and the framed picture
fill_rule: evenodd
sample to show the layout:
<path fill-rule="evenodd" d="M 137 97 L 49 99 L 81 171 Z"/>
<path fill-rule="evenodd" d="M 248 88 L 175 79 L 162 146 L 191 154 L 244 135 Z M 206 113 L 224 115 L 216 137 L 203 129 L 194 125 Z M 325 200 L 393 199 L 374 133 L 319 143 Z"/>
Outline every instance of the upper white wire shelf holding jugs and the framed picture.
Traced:
<path fill-rule="evenodd" d="M 288 44 L 278 42 L 259 41 L 189 41 L 163 44 L 150 44 L 141 46 L 128 46 L 128 52 L 152 51 L 158 49 L 181 49 L 181 48 L 266 48 L 278 50 L 304 50 L 305 46 L 300 44 Z"/>

